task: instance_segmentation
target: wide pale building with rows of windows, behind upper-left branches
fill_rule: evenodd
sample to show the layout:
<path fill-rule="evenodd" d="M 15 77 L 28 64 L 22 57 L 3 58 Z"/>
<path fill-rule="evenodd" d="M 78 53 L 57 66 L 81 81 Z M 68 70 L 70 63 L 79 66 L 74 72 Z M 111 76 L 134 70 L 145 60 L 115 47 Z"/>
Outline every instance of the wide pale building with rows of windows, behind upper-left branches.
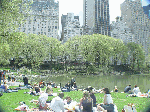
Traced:
<path fill-rule="evenodd" d="M 29 17 L 19 27 L 26 34 L 42 34 L 59 39 L 59 2 L 54 0 L 33 0 Z"/>

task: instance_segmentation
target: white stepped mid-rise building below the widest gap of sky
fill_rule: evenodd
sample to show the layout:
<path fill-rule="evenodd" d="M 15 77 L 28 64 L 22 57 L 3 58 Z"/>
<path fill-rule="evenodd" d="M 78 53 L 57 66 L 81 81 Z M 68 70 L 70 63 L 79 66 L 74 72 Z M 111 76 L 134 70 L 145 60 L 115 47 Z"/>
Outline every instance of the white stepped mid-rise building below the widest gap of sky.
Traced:
<path fill-rule="evenodd" d="M 73 13 L 67 13 L 67 15 L 61 16 L 62 33 L 61 41 L 64 43 L 69 38 L 74 36 L 81 36 L 83 28 L 80 26 L 79 16 L 74 16 Z"/>

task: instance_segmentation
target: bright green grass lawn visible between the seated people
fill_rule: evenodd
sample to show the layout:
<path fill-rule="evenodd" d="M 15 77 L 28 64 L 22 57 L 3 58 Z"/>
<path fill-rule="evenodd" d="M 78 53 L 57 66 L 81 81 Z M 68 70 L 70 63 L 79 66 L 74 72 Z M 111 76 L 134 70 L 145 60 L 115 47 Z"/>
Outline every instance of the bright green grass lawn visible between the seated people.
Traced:
<path fill-rule="evenodd" d="M 11 88 L 11 87 L 10 87 Z M 42 90 L 44 90 L 42 88 Z M 54 92 L 59 93 L 59 88 L 53 88 Z M 29 90 L 19 90 L 18 92 L 12 92 L 12 93 L 4 93 L 2 97 L 0 97 L 0 106 L 6 111 L 6 112 L 13 112 L 16 107 L 19 106 L 20 101 L 24 101 L 29 108 L 37 108 L 38 106 L 34 103 L 30 103 L 32 99 L 38 100 L 39 96 L 32 96 L 29 94 L 24 94 L 24 92 L 28 92 Z M 67 96 L 70 96 L 72 100 L 75 100 L 77 102 L 80 101 L 80 99 L 83 96 L 82 91 L 71 91 L 71 92 L 65 92 L 64 98 Z M 134 103 L 137 109 L 137 112 L 141 112 L 145 107 L 149 99 L 147 98 L 138 98 L 138 97 L 127 97 L 127 94 L 123 93 L 111 93 L 113 102 L 116 104 L 118 108 L 118 112 L 121 112 L 124 105 L 127 105 L 128 103 Z M 104 94 L 95 94 L 97 98 L 97 103 L 103 102 Z M 48 100 L 52 100 L 54 96 L 49 96 Z"/>

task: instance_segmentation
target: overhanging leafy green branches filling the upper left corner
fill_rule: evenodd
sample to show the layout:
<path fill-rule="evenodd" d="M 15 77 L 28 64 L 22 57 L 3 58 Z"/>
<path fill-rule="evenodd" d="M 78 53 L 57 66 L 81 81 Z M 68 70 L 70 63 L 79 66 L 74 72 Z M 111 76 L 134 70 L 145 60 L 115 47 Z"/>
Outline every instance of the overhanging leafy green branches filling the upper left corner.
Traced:
<path fill-rule="evenodd" d="M 24 0 L 0 1 L 0 35 L 4 37 L 3 39 L 10 32 L 15 31 L 28 16 L 31 3 Z"/>

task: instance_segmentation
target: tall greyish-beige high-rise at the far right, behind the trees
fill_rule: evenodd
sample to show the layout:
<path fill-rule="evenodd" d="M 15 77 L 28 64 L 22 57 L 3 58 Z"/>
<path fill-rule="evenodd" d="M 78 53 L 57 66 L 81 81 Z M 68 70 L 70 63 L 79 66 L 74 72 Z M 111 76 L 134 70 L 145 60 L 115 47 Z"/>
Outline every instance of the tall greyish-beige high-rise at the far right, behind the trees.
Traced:
<path fill-rule="evenodd" d="M 122 21 L 131 29 L 135 42 L 141 44 L 148 54 L 150 45 L 150 20 L 144 13 L 141 0 L 125 0 L 121 4 Z"/>

